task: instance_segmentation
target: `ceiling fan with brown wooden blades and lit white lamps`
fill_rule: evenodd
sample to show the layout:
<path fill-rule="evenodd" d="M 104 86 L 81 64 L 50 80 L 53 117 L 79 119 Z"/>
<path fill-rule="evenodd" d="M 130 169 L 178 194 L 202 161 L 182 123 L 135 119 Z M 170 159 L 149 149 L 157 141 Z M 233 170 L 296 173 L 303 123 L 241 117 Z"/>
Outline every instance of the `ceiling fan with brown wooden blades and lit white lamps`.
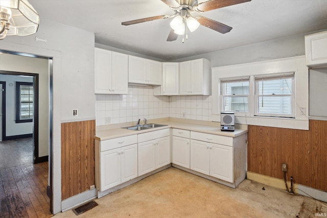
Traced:
<path fill-rule="evenodd" d="M 220 23 L 218 21 L 203 17 L 196 16 L 193 17 L 191 12 L 202 13 L 206 11 L 215 10 L 218 8 L 223 8 L 231 5 L 237 5 L 245 2 L 250 2 L 251 0 L 209 0 L 207 2 L 198 3 L 197 0 L 161 0 L 161 2 L 168 5 L 172 10 L 175 11 L 173 15 L 159 15 L 154 17 L 147 17 L 142 19 L 130 20 L 122 22 L 122 25 L 128 26 L 136 23 L 147 22 L 157 19 L 174 19 L 171 21 L 171 31 L 168 35 L 167 41 L 175 41 L 178 35 L 184 35 L 186 33 L 186 39 L 188 39 L 188 29 L 193 32 L 200 25 L 220 32 L 222 34 L 228 33 L 232 28 Z M 183 41 L 184 42 L 184 37 Z"/>

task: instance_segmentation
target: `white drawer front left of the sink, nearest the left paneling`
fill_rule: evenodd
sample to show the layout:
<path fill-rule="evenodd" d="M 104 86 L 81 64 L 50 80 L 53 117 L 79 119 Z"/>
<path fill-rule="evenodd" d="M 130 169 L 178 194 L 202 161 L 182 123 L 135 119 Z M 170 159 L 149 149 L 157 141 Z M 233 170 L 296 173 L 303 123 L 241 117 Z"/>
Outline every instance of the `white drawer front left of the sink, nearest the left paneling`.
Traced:
<path fill-rule="evenodd" d="M 129 146 L 130 144 L 135 144 L 135 143 L 137 143 L 137 135 L 129 135 L 119 138 L 103 140 L 100 142 L 101 144 L 100 152 L 121 148 L 124 146 Z"/>

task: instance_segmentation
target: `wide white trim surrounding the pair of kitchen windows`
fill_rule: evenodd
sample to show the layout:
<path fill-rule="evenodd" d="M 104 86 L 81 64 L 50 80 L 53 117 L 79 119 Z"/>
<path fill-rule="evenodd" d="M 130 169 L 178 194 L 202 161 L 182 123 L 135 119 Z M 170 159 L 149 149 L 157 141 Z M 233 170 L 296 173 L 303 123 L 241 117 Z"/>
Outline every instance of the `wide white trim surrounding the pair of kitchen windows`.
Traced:
<path fill-rule="evenodd" d="M 212 120 L 220 122 L 220 79 L 231 77 L 245 77 L 252 75 L 277 75 L 278 72 L 294 73 L 295 118 L 254 116 L 252 112 L 246 115 L 235 114 L 235 123 L 255 126 L 309 130 L 309 69 L 305 56 L 275 59 L 245 64 L 236 64 L 212 68 Z M 254 90 L 254 82 L 250 77 L 250 93 Z M 254 102 L 250 102 L 249 107 Z M 301 114 L 300 108 L 306 108 L 306 115 Z M 249 108 L 249 111 L 254 111 Z"/>

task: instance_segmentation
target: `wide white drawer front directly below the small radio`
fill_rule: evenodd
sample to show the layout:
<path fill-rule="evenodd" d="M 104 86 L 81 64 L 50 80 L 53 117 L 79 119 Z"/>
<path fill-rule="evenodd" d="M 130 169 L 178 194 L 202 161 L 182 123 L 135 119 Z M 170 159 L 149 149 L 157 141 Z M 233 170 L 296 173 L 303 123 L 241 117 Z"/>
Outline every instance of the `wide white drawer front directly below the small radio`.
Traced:
<path fill-rule="evenodd" d="M 233 137 L 191 131 L 191 138 L 199 141 L 233 146 Z"/>

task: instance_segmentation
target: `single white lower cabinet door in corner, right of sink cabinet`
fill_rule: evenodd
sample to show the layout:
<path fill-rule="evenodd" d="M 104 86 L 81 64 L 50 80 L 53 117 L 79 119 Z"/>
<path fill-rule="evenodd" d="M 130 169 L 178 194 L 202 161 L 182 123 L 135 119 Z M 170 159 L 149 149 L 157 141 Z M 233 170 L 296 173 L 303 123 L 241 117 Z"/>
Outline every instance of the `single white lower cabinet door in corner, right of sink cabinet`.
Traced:
<path fill-rule="evenodd" d="M 173 163 L 190 168 L 190 139 L 173 136 Z"/>

